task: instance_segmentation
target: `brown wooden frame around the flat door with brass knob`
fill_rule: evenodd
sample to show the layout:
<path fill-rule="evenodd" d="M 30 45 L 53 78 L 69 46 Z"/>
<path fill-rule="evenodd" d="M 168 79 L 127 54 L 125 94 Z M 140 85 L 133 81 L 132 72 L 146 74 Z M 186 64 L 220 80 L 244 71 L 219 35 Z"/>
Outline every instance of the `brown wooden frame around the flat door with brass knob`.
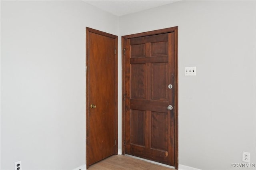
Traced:
<path fill-rule="evenodd" d="M 110 38 L 114 38 L 115 39 L 115 49 L 117 51 L 118 49 L 118 36 L 115 36 L 113 34 L 108 34 L 106 32 L 102 32 L 99 30 L 95 30 L 92 28 L 88 28 L 86 27 L 86 168 L 88 168 L 89 166 L 89 108 L 90 108 L 90 104 L 89 104 L 89 33 L 95 33 L 95 34 L 100 34 L 102 36 L 107 36 Z M 117 154 L 117 150 L 118 150 L 118 53 L 115 53 L 115 137 L 116 137 L 116 147 L 115 147 L 115 155 Z"/>

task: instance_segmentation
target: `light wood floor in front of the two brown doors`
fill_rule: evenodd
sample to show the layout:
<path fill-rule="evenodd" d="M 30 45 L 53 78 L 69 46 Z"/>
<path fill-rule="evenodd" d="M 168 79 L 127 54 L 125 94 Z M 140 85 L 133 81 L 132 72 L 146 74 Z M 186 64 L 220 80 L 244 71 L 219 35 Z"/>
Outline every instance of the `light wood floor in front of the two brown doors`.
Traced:
<path fill-rule="evenodd" d="M 88 170 L 174 170 L 124 155 L 114 155 L 89 166 Z"/>

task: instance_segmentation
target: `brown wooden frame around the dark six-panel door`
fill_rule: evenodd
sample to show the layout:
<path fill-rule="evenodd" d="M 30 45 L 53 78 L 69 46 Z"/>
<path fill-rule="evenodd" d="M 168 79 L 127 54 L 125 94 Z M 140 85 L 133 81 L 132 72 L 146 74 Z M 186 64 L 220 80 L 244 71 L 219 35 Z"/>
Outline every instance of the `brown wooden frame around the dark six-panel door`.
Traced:
<path fill-rule="evenodd" d="M 122 36 L 122 154 L 125 154 L 125 40 L 174 32 L 174 166 L 178 169 L 178 26 Z"/>

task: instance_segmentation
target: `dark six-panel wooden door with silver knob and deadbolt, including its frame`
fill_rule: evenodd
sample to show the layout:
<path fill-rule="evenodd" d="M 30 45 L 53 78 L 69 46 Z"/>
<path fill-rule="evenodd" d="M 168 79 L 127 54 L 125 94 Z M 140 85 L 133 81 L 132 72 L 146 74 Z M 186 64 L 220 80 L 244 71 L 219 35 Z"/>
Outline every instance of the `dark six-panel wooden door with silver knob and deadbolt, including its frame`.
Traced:
<path fill-rule="evenodd" d="M 177 27 L 124 36 L 123 47 L 124 152 L 177 167 Z"/>

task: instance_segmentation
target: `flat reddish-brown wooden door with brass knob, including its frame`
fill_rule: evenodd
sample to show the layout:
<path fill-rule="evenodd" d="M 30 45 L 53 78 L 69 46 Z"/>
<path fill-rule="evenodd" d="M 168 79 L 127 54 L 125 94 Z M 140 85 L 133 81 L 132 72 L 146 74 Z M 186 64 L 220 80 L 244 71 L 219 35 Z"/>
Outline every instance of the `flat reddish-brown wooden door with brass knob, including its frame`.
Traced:
<path fill-rule="evenodd" d="M 86 165 L 117 154 L 117 36 L 86 28 Z"/>

